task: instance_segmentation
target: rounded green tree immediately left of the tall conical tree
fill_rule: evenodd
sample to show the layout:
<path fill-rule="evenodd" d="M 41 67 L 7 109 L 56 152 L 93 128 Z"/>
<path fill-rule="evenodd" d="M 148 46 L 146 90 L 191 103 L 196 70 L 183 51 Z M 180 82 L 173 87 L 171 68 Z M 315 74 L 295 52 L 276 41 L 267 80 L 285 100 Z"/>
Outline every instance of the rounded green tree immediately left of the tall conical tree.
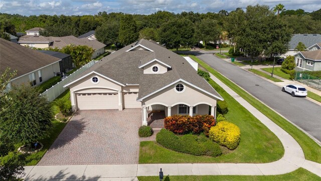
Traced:
<path fill-rule="evenodd" d="M 118 34 L 119 22 L 117 21 L 109 21 L 103 23 L 95 30 L 95 35 L 98 41 L 106 45 L 110 45 L 113 43 L 116 47 L 118 47 L 119 44 Z"/>

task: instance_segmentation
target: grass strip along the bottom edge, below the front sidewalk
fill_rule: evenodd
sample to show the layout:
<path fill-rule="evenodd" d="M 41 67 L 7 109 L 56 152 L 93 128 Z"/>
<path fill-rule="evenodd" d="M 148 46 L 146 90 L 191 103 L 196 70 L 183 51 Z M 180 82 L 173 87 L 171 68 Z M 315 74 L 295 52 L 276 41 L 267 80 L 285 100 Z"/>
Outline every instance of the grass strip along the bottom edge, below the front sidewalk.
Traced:
<path fill-rule="evenodd" d="M 185 181 L 185 180 L 195 180 L 195 181 L 220 181 L 220 180 L 320 180 L 320 177 L 316 174 L 313 174 L 309 171 L 307 171 L 304 168 L 298 168 L 295 171 L 292 171 L 290 173 L 281 174 L 281 175 L 184 175 L 184 176 L 172 176 L 168 175 L 166 173 L 166 170 L 163 170 L 164 172 L 164 181 L 165 180 L 171 180 L 171 181 Z M 154 181 L 159 180 L 158 176 L 137 176 L 139 181 Z"/>

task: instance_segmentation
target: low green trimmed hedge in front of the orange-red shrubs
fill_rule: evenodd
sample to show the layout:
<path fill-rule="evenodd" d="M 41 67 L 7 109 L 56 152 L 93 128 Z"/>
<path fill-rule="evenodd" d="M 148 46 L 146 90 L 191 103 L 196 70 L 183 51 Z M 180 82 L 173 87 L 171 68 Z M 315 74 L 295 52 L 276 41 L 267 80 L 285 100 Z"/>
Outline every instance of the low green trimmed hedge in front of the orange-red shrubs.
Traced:
<path fill-rule="evenodd" d="M 177 136 L 169 130 L 162 129 L 157 133 L 156 141 L 168 149 L 182 153 L 207 156 L 222 154 L 219 145 L 208 139 L 204 134 L 200 136 L 192 134 Z"/>

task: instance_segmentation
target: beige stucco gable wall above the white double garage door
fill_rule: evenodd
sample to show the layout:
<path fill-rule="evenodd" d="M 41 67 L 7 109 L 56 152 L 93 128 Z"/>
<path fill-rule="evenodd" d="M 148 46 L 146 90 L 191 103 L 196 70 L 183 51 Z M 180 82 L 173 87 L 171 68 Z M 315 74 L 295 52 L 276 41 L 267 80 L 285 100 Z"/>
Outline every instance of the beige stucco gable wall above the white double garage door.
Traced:
<path fill-rule="evenodd" d="M 92 83 L 92 77 L 98 77 L 99 82 L 97 84 Z M 121 91 L 121 85 L 112 82 L 104 77 L 96 75 L 95 73 L 84 77 L 82 80 L 70 85 L 70 92 L 90 92 L 90 93 L 112 93 Z M 86 93 L 88 93 L 86 92 Z"/>

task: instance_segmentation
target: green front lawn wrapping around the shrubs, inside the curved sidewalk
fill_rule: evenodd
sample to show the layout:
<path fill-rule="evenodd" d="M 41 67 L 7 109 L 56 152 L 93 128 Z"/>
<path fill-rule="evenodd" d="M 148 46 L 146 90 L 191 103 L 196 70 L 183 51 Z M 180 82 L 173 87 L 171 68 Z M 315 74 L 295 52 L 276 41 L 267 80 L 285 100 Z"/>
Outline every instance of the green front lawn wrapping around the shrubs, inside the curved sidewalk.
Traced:
<path fill-rule="evenodd" d="M 281 142 L 269 129 L 213 80 L 209 83 L 228 104 L 229 112 L 225 115 L 227 121 L 237 125 L 241 130 L 239 146 L 233 151 L 222 147 L 223 155 L 209 157 L 172 151 L 153 141 L 141 142 L 139 163 L 267 163 L 283 156 Z"/>

